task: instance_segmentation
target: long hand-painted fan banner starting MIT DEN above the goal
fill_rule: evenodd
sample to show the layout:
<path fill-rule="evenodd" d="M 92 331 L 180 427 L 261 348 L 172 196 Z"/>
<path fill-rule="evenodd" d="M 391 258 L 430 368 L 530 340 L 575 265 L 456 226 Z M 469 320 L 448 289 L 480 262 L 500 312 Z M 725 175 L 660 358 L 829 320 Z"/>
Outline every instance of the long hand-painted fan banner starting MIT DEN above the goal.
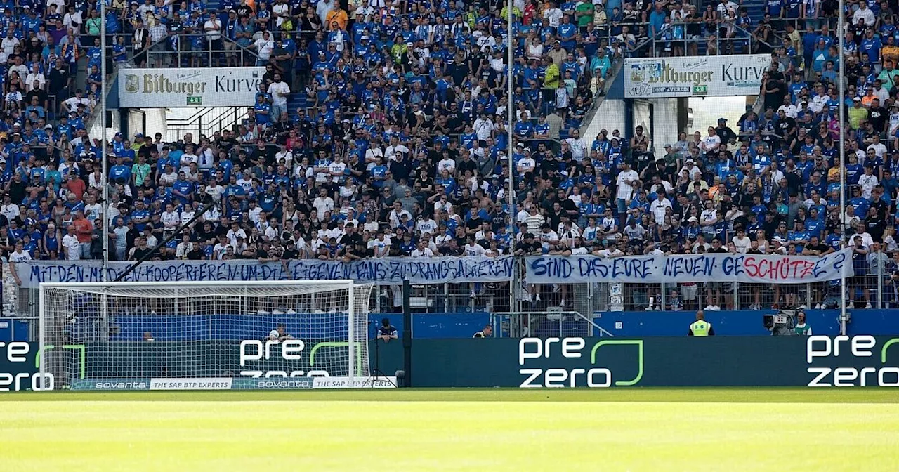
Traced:
<path fill-rule="evenodd" d="M 256 261 L 152 261 L 142 263 L 126 281 L 334 281 L 390 285 L 512 280 L 512 256 L 384 257 L 353 263 L 303 259 L 289 263 Z M 31 261 L 18 263 L 23 287 L 40 282 L 99 282 L 100 261 Z M 116 280 L 131 263 L 109 263 L 106 281 Z"/>

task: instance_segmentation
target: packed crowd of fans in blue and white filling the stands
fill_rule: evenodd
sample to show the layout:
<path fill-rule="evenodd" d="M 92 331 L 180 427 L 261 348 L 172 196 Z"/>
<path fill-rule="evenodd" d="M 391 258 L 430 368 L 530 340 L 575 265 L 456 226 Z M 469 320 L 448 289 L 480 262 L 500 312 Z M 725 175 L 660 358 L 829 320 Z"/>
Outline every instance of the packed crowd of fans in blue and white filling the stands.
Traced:
<path fill-rule="evenodd" d="M 97 259 L 109 237 L 111 260 L 134 261 L 215 201 L 153 257 L 497 256 L 512 241 L 514 254 L 814 255 L 845 237 L 862 280 L 899 273 L 899 30 L 888 2 L 847 3 L 844 103 L 832 0 L 769 0 L 761 18 L 731 0 L 513 4 L 510 103 L 503 3 L 113 0 L 110 70 L 266 73 L 234 129 L 169 143 L 117 134 L 103 150 L 85 129 L 101 85 L 98 5 L 7 0 L 0 250 L 13 262 Z M 772 64 L 734 128 L 722 119 L 672 143 L 642 127 L 602 130 L 590 147 L 580 135 L 619 59 L 750 49 Z M 306 105 L 289 110 L 298 95 Z M 897 280 L 885 282 L 894 294 Z M 724 285 L 675 285 L 664 307 L 732 307 Z M 857 285 L 851 296 L 870 307 L 870 284 Z M 774 305 L 801 303 L 780 291 Z M 647 293 L 636 307 L 652 307 Z M 832 298 L 813 293 L 815 306 Z M 749 305 L 761 307 L 758 295 Z"/>

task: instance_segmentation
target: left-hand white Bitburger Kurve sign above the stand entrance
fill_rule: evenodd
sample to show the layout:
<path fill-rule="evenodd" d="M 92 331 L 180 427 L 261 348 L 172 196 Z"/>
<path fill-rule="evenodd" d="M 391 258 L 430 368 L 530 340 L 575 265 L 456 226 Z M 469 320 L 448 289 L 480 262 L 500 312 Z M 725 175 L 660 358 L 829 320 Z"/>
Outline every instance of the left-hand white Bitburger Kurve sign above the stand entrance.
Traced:
<path fill-rule="evenodd" d="M 265 67 L 122 69 L 120 108 L 253 106 Z"/>

